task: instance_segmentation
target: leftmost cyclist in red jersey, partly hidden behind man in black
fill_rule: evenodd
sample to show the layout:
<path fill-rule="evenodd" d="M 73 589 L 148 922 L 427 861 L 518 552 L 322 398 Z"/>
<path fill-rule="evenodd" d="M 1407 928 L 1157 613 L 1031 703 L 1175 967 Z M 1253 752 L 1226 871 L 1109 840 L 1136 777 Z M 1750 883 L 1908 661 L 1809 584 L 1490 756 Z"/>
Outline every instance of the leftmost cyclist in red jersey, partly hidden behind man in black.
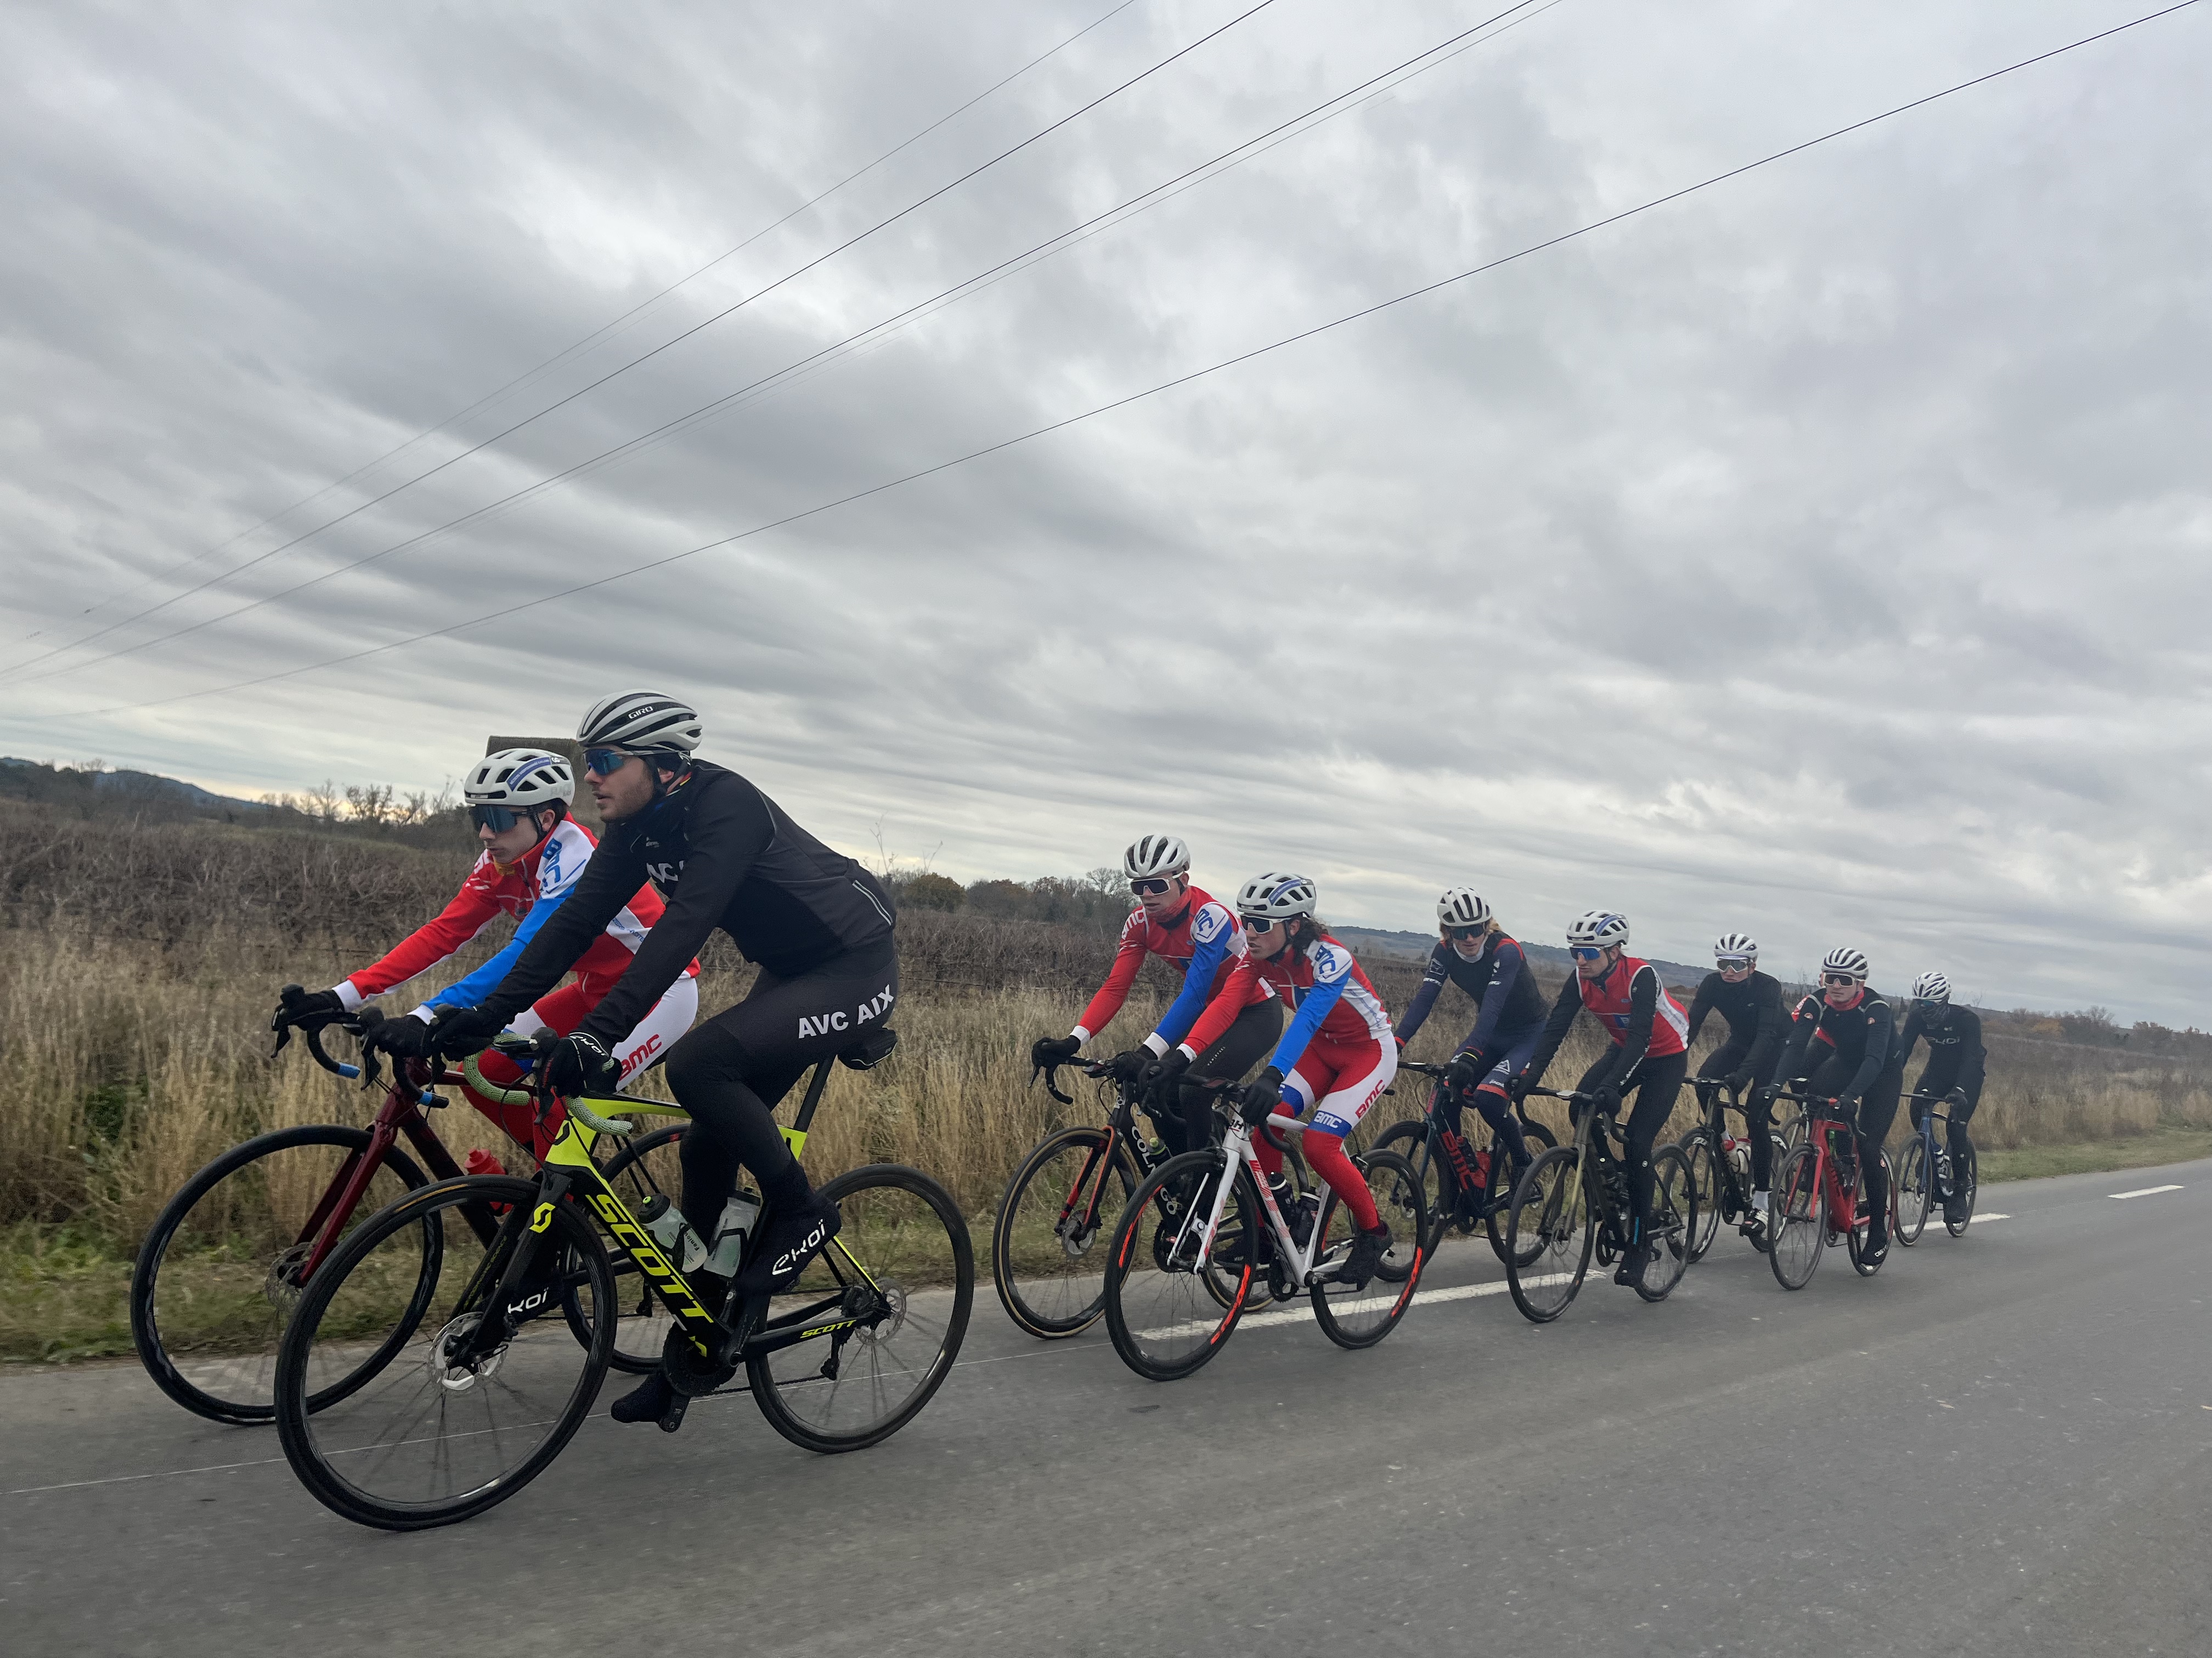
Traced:
<path fill-rule="evenodd" d="M 597 844 L 591 831 L 568 816 L 575 798 L 575 774 L 557 754 L 544 749 L 500 749 L 487 754 L 462 785 L 469 816 L 476 822 L 476 838 L 482 856 L 460 884 L 453 902 L 445 911 L 418 926 L 383 959 L 349 973 L 330 990 L 288 997 L 292 1012 L 352 1012 L 369 997 L 405 984 L 418 973 L 438 966 L 482 933 L 491 922 L 509 915 L 515 920 L 515 935 L 476 973 L 458 979 L 429 997 L 411 1017 L 389 1019 L 376 1028 L 376 1048 L 403 1059 L 425 1059 L 429 1054 L 429 1021 L 440 1008 L 467 1008 L 482 999 L 484 990 L 498 984 L 513 966 L 522 948 L 560 909 L 575 889 L 584 864 Z M 575 979 L 540 997 L 524 1008 L 511 1030 L 533 1037 L 540 1030 L 566 1035 L 575 1030 L 599 997 L 630 966 L 630 957 L 644 942 L 653 922 L 661 915 L 661 898 L 650 886 L 641 886 L 624 911 L 608 922 L 599 940 L 584 951 L 575 964 Z M 668 993 L 646 1012 L 622 1043 L 622 1077 L 628 1081 L 650 1066 L 670 1043 L 690 1030 L 699 1012 L 699 964 L 692 962 Z M 484 1054 L 478 1068 L 487 1083 L 507 1088 L 522 1072 L 502 1054 Z M 531 1105 L 500 1105 L 473 1088 L 462 1088 L 469 1103 L 498 1123 L 518 1143 L 529 1145 L 540 1158 L 560 1134 L 560 1112 L 544 1123 L 535 1121 Z"/>

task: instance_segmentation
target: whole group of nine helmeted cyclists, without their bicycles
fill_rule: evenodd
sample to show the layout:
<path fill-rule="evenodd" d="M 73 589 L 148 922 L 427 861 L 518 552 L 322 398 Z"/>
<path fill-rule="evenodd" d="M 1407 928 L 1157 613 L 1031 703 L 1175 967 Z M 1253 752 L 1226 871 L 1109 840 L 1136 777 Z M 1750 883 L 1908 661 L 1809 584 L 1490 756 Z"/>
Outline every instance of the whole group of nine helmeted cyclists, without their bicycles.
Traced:
<path fill-rule="evenodd" d="M 690 1114 L 681 1145 L 686 1227 L 714 1238 L 741 1169 L 768 1200 L 743 1273 L 728 1282 L 699 1276 L 708 1311 L 721 1313 L 730 1295 L 765 1300 L 790 1284 L 838 1231 L 836 1207 L 816 1198 L 774 1108 L 810 1066 L 885 1026 L 898 1001 L 898 948 L 887 886 L 743 776 L 701 760 L 701 738 L 699 714 L 677 696 L 633 690 L 595 703 L 577 745 L 606 825 L 597 840 L 571 816 L 577 778 L 566 758 L 544 749 L 489 754 L 462 789 L 482 853 L 453 902 L 327 990 L 288 990 L 279 1017 L 354 1017 L 369 997 L 449 959 L 495 917 L 515 917 L 511 942 L 484 966 L 411 1017 L 367 1024 L 365 1043 L 398 1059 L 467 1057 L 471 1079 L 482 1081 L 465 1090 L 469 1101 L 540 1158 L 562 1119 L 507 1103 L 520 1068 L 487 1052 L 493 1039 L 526 1037 L 529 1063 L 564 1096 L 613 1092 L 661 1063 Z M 1931 1057 L 1920 1094 L 1949 1099 L 1953 1163 L 1969 1154 L 1966 1121 L 1982 1088 L 1980 1021 L 1951 1004 L 1940 973 L 1913 984 L 1898 1028 L 1867 986 L 1867 957 L 1843 946 L 1823 962 L 1818 993 L 1785 1008 L 1781 984 L 1759 970 L 1759 946 L 1728 933 L 1686 1012 L 1657 968 L 1628 955 L 1628 920 L 1590 911 L 1566 928 L 1575 970 L 1546 1008 L 1526 951 L 1473 889 L 1455 886 L 1438 900 L 1438 942 L 1394 1021 L 1354 953 L 1329 935 L 1312 880 L 1270 871 L 1223 904 L 1192 884 L 1190 851 L 1175 836 L 1139 838 L 1121 871 L 1135 902 L 1113 968 L 1066 1035 L 1033 1046 L 1033 1063 L 1082 1054 L 1124 1008 L 1144 962 L 1166 962 L 1181 975 L 1179 993 L 1106 1068 L 1141 1092 L 1168 1152 L 1212 1141 L 1221 1083 L 1239 1083 L 1225 1096 L 1248 1123 L 1265 1123 L 1270 1112 L 1305 1119 L 1305 1161 L 1356 1222 L 1336 1267 L 1343 1282 L 1363 1284 L 1391 1247 L 1345 1141 L 1389 1088 L 1447 982 L 1475 1004 L 1475 1021 L 1453 1050 L 1440 1110 L 1458 1132 L 1460 1110 L 1473 1105 L 1515 1176 L 1528 1163 L 1517 1105 L 1542 1085 L 1575 1017 L 1590 1012 L 1610 1037 L 1575 1094 L 1577 1110 L 1626 1112 L 1637 1231 L 1615 1276 L 1624 1284 L 1641 1282 L 1652 1260 L 1652 1143 L 1674 1110 L 1690 1043 L 1714 1012 L 1728 1039 L 1699 1074 L 1725 1077 L 1750 1112 L 1752 1227 L 1767 1209 L 1770 1108 L 1790 1083 L 1854 1114 L 1876 1258 L 1887 1249 L 1878 1147 L 1922 1039 Z M 697 955 L 717 928 L 759 973 L 739 1004 L 699 1021 Z M 573 982 L 560 984 L 571 970 Z M 1920 1110 L 1916 1096 L 1916 1121 Z M 1274 1143 L 1261 1141 L 1256 1152 L 1276 1176 Z M 655 1373 L 617 1399 L 613 1415 L 659 1419 L 670 1388 Z"/>

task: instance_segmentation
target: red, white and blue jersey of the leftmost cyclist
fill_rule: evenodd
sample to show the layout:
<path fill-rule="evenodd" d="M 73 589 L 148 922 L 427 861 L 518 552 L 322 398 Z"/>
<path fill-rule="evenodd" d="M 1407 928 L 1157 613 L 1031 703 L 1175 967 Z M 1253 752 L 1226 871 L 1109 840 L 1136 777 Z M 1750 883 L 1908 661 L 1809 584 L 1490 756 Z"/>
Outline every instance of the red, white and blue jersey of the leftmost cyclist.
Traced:
<path fill-rule="evenodd" d="M 358 1008 L 365 999 L 383 995 L 416 973 L 438 966 L 500 915 L 511 915 L 518 920 L 518 926 L 507 946 L 484 962 L 484 966 L 476 968 L 476 973 L 447 986 L 414 1012 L 418 1019 L 429 1019 L 434 1008 L 476 1006 L 478 999 L 507 977 L 507 970 L 520 959 L 531 940 L 538 937 L 540 928 L 575 893 L 577 882 L 591 867 L 595 844 L 591 829 L 575 818 L 562 818 L 553 825 L 553 833 L 511 864 L 495 862 L 489 851 L 482 853 L 469 878 L 460 884 L 460 891 L 453 893 L 453 902 L 436 920 L 425 922 L 400 940 L 380 962 L 347 975 L 332 988 L 349 1010 Z M 644 884 L 635 886 L 608 915 L 604 931 L 575 957 L 575 984 L 555 993 L 566 999 L 564 1010 L 573 1008 L 577 999 L 584 1006 L 597 1004 L 630 966 L 637 946 L 646 942 L 646 933 L 653 931 L 657 920 L 661 920 L 659 893 Z M 670 975 L 670 979 L 697 975 L 699 964 L 690 962 L 681 975 Z M 544 1001 L 551 999 L 544 997 Z M 540 1019 L 555 1028 L 566 1028 L 560 1024 L 560 1017 L 540 1015 Z M 628 1030 L 630 1026 L 624 1026 L 615 1035 L 626 1037 Z"/>

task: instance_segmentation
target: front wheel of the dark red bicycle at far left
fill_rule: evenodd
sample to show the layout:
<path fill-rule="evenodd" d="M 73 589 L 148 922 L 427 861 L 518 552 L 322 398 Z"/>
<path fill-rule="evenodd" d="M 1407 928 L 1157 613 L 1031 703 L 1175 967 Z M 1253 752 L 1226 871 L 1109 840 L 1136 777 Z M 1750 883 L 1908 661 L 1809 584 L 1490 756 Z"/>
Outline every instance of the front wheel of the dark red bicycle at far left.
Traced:
<path fill-rule="evenodd" d="M 367 1150 L 367 1130 L 283 1127 L 232 1145 L 177 1189 L 131 1269 L 131 1340 L 161 1393 L 210 1421 L 274 1421 L 276 1346 L 301 1267 L 327 1227 L 323 1205 Z M 385 1152 L 341 1236 L 425 1183 L 414 1158 Z M 434 1282 L 438 1236 L 420 1229 L 416 1242 L 416 1278 Z"/>

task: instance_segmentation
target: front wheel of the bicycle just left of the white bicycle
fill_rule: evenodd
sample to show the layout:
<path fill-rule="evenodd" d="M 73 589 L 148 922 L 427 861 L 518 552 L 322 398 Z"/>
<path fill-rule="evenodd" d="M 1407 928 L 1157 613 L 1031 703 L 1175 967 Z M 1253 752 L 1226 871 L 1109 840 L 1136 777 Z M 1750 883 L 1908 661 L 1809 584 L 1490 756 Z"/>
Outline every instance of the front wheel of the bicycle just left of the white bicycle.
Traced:
<path fill-rule="evenodd" d="M 1137 1189 L 1104 1127 L 1044 1136 L 1006 1180 L 991 1227 L 991 1284 L 1006 1318 L 1031 1335 L 1060 1340 L 1106 1313 L 1106 1242 Z"/>

